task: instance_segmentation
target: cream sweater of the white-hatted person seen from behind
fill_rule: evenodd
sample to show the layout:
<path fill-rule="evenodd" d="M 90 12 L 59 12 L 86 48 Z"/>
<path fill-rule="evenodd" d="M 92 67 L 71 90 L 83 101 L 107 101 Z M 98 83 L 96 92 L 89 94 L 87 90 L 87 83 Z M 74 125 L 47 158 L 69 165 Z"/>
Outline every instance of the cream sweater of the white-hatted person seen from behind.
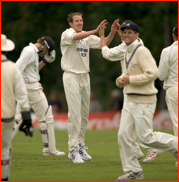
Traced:
<path fill-rule="evenodd" d="M 16 101 L 22 111 L 29 111 L 27 90 L 22 74 L 15 63 L 8 61 L 1 54 L 1 119 L 10 119 L 15 116 Z M 1 127 L 2 127 L 1 122 Z"/>

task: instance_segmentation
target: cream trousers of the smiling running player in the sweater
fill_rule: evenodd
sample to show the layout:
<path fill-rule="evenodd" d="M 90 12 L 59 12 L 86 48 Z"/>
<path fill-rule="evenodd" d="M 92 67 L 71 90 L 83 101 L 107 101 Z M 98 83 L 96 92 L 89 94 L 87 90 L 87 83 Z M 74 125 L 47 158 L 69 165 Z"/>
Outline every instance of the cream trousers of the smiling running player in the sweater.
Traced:
<path fill-rule="evenodd" d="M 155 111 L 154 104 L 137 104 L 126 101 L 118 131 L 118 143 L 124 172 L 142 171 L 133 149 L 133 142 L 139 141 L 151 148 L 176 152 L 178 137 L 162 132 L 153 132 L 152 119 Z"/>

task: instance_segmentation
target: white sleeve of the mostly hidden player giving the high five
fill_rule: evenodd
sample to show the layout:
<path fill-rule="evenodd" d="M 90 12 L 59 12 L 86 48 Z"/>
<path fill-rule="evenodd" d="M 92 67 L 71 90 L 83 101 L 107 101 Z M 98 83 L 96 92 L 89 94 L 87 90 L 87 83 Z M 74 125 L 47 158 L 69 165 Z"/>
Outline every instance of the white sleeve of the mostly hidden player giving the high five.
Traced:
<path fill-rule="evenodd" d="M 102 47 L 102 55 L 105 59 L 109 61 L 119 61 L 124 60 L 124 53 L 126 52 L 126 47 L 124 43 L 119 46 L 109 49 L 107 46 Z"/>

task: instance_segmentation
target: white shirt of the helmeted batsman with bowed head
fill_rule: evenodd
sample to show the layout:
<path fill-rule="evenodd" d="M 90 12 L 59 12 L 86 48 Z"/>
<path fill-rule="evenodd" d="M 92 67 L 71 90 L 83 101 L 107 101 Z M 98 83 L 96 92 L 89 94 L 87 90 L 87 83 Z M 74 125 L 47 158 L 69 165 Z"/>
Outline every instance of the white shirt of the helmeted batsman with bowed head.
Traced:
<path fill-rule="evenodd" d="M 17 60 L 16 65 L 22 72 L 25 83 L 39 82 L 39 56 L 37 47 L 30 43 L 26 46 Z"/>

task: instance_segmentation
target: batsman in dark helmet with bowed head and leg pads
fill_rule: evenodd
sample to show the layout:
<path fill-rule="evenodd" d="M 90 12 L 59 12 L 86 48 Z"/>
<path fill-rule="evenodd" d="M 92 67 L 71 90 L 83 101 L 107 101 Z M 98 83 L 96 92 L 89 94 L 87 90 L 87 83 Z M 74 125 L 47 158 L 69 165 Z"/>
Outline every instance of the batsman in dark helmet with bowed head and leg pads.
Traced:
<path fill-rule="evenodd" d="M 55 60 L 55 44 L 50 37 L 42 37 L 37 40 L 35 44 L 30 43 L 26 46 L 17 60 L 16 65 L 22 72 L 26 88 L 28 91 L 29 104 L 34 110 L 39 122 L 40 133 L 43 141 L 43 155 L 65 155 L 56 149 L 55 133 L 54 133 L 54 119 L 52 114 L 52 107 L 48 105 L 43 88 L 40 81 L 39 70 L 41 70 L 47 63 L 52 63 Z M 39 56 L 44 56 L 39 63 Z M 21 116 L 19 115 L 19 107 L 16 111 L 16 124 L 12 137 L 17 133 L 19 124 L 21 123 Z"/>

